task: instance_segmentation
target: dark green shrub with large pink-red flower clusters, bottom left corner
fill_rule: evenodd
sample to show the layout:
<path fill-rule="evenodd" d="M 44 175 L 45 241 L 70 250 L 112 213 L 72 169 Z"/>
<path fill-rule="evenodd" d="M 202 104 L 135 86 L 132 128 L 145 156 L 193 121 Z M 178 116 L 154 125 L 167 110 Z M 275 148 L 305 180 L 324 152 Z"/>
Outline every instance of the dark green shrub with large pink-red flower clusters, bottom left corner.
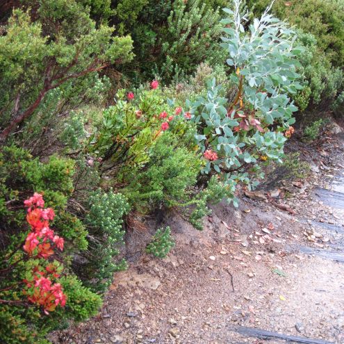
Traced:
<path fill-rule="evenodd" d="M 67 206 L 73 173 L 70 160 L 53 156 L 40 163 L 24 149 L 1 148 L 1 343 L 48 343 L 48 331 L 99 309 L 100 297 L 69 268 L 72 254 L 87 247 L 87 231 Z M 39 193 L 24 201 L 22 195 L 33 190 Z M 74 288 L 69 288 L 71 279 Z"/>

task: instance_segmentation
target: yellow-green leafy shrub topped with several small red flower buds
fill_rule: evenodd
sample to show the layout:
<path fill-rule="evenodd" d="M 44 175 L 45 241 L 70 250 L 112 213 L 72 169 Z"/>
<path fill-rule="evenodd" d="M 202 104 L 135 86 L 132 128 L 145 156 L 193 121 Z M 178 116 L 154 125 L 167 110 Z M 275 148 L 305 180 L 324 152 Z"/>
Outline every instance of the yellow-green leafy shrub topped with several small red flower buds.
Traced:
<path fill-rule="evenodd" d="M 149 161 L 149 149 L 172 123 L 174 133 L 183 136 L 186 124 L 181 120 L 181 108 L 174 108 L 151 82 L 151 90 L 140 90 L 136 101 L 124 100 L 125 92 L 117 93 L 117 103 L 104 110 L 104 118 L 90 138 L 88 151 L 101 160 L 101 170 L 126 174 L 133 167 Z"/>

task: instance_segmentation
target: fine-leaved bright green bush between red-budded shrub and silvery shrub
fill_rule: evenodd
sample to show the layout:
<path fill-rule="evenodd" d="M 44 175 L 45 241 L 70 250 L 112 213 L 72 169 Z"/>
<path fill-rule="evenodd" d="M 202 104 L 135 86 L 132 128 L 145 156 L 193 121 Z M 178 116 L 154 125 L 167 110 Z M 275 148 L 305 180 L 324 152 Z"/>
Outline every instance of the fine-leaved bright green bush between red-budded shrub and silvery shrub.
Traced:
<path fill-rule="evenodd" d="M 134 208 L 147 213 L 159 206 L 178 206 L 188 202 L 201 167 L 199 156 L 179 147 L 177 138 L 165 132 L 152 147 L 142 171 L 126 177 L 123 193 Z"/>

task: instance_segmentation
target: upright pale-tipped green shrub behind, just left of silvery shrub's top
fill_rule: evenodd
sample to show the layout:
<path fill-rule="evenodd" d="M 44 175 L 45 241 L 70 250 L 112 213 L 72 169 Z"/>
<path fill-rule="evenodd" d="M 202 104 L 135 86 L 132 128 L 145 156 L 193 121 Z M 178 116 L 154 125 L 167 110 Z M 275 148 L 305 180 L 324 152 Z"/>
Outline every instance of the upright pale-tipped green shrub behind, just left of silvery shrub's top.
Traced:
<path fill-rule="evenodd" d="M 218 49 L 220 33 L 217 10 L 207 10 L 200 0 L 175 1 L 167 18 L 167 28 L 158 42 L 161 55 L 156 73 L 169 81 L 177 73 L 195 72 L 204 61 L 214 65 L 223 60 L 222 51 Z"/>

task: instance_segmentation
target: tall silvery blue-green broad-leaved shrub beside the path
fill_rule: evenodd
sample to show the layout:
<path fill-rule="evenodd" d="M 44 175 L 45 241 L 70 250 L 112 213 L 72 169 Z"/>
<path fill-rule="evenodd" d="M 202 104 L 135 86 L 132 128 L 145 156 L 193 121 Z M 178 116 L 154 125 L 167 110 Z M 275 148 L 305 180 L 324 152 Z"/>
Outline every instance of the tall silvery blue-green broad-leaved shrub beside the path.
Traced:
<path fill-rule="evenodd" d="M 240 3 L 234 1 L 234 11 L 225 9 L 229 18 L 222 20 L 226 34 L 222 47 L 233 68 L 234 96 L 220 97 L 221 87 L 213 79 L 206 98 L 187 102 L 199 128 L 196 139 L 206 159 L 203 172 L 214 170 L 221 175 L 234 204 L 239 181 L 254 188 L 257 181 L 252 177 L 262 177 L 259 159 L 281 161 L 283 132 L 295 122 L 292 114 L 297 110 L 288 94 L 301 88 L 295 73 L 299 51 L 293 48 L 293 31 L 269 15 L 270 8 L 245 31 L 247 19 L 240 15 Z"/>

